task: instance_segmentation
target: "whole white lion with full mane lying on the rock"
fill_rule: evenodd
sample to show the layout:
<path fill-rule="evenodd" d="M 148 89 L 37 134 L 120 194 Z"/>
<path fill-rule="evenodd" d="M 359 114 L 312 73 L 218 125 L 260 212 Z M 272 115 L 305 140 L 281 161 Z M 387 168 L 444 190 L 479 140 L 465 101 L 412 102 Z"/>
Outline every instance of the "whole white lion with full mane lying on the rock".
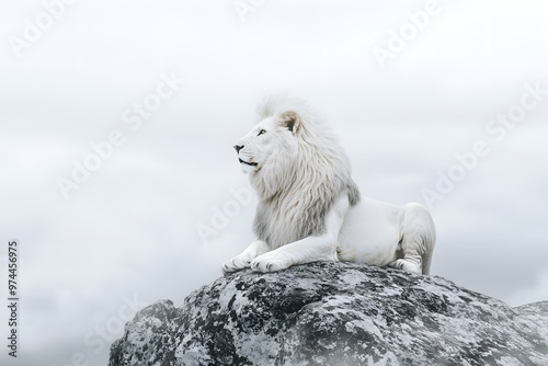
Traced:
<path fill-rule="evenodd" d="M 271 98 L 258 112 L 235 145 L 259 195 L 258 239 L 222 264 L 225 273 L 318 261 L 430 273 L 435 227 L 423 206 L 359 197 L 346 155 L 306 103 Z"/>

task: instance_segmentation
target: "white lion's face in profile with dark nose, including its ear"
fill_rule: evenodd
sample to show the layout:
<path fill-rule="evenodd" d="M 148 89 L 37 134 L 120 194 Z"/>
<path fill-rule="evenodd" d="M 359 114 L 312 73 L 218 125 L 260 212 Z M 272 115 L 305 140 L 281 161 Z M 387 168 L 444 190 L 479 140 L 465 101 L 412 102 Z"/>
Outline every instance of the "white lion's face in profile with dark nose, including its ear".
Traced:
<path fill-rule="evenodd" d="M 269 168 L 279 170 L 295 159 L 298 124 L 298 115 L 292 112 L 267 117 L 236 141 L 233 148 L 243 172 L 253 174 Z"/>

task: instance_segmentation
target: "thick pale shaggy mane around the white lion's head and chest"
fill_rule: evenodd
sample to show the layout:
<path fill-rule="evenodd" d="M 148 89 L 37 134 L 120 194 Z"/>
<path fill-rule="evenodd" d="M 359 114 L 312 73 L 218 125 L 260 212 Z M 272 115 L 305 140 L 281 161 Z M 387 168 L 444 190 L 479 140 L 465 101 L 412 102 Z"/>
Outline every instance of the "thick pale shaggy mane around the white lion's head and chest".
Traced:
<path fill-rule="evenodd" d="M 256 112 L 259 121 L 282 118 L 287 112 L 298 114 L 300 121 L 293 135 L 282 134 L 283 139 L 296 138 L 297 144 L 282 141 L 277 159 L 250 176 L 259 195 L 255 235 L 272 249 L 322 235 L 326 215 L 340 194 L 346 193 L 351 205 L 359 201 L 346 155 L 305 102 L 270 98 Z"/>

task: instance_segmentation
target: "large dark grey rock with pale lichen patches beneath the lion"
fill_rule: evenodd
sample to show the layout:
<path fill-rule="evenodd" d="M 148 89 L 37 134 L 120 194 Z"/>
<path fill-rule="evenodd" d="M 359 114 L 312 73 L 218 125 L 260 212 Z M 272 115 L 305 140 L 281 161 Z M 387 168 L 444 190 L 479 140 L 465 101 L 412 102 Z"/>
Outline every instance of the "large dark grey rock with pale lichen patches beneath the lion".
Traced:
<path fill-rule="evenodd" d="M 139 311 L 109 365 L 547 366 L 548 301 L 356 263 L 243 271 Z"/>

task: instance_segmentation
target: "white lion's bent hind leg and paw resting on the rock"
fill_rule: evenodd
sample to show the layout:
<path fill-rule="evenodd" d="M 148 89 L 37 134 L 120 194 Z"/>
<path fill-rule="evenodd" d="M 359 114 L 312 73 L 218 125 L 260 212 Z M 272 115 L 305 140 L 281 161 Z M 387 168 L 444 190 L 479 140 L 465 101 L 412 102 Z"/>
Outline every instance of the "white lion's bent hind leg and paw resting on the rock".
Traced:
<path fill-rule="evenodd" d="M 398 216 L 398 260 L 388 265 L 413 273 L 430 274 L 436 233 L 432 216 L 422 205 L 407 204 Z"/>

